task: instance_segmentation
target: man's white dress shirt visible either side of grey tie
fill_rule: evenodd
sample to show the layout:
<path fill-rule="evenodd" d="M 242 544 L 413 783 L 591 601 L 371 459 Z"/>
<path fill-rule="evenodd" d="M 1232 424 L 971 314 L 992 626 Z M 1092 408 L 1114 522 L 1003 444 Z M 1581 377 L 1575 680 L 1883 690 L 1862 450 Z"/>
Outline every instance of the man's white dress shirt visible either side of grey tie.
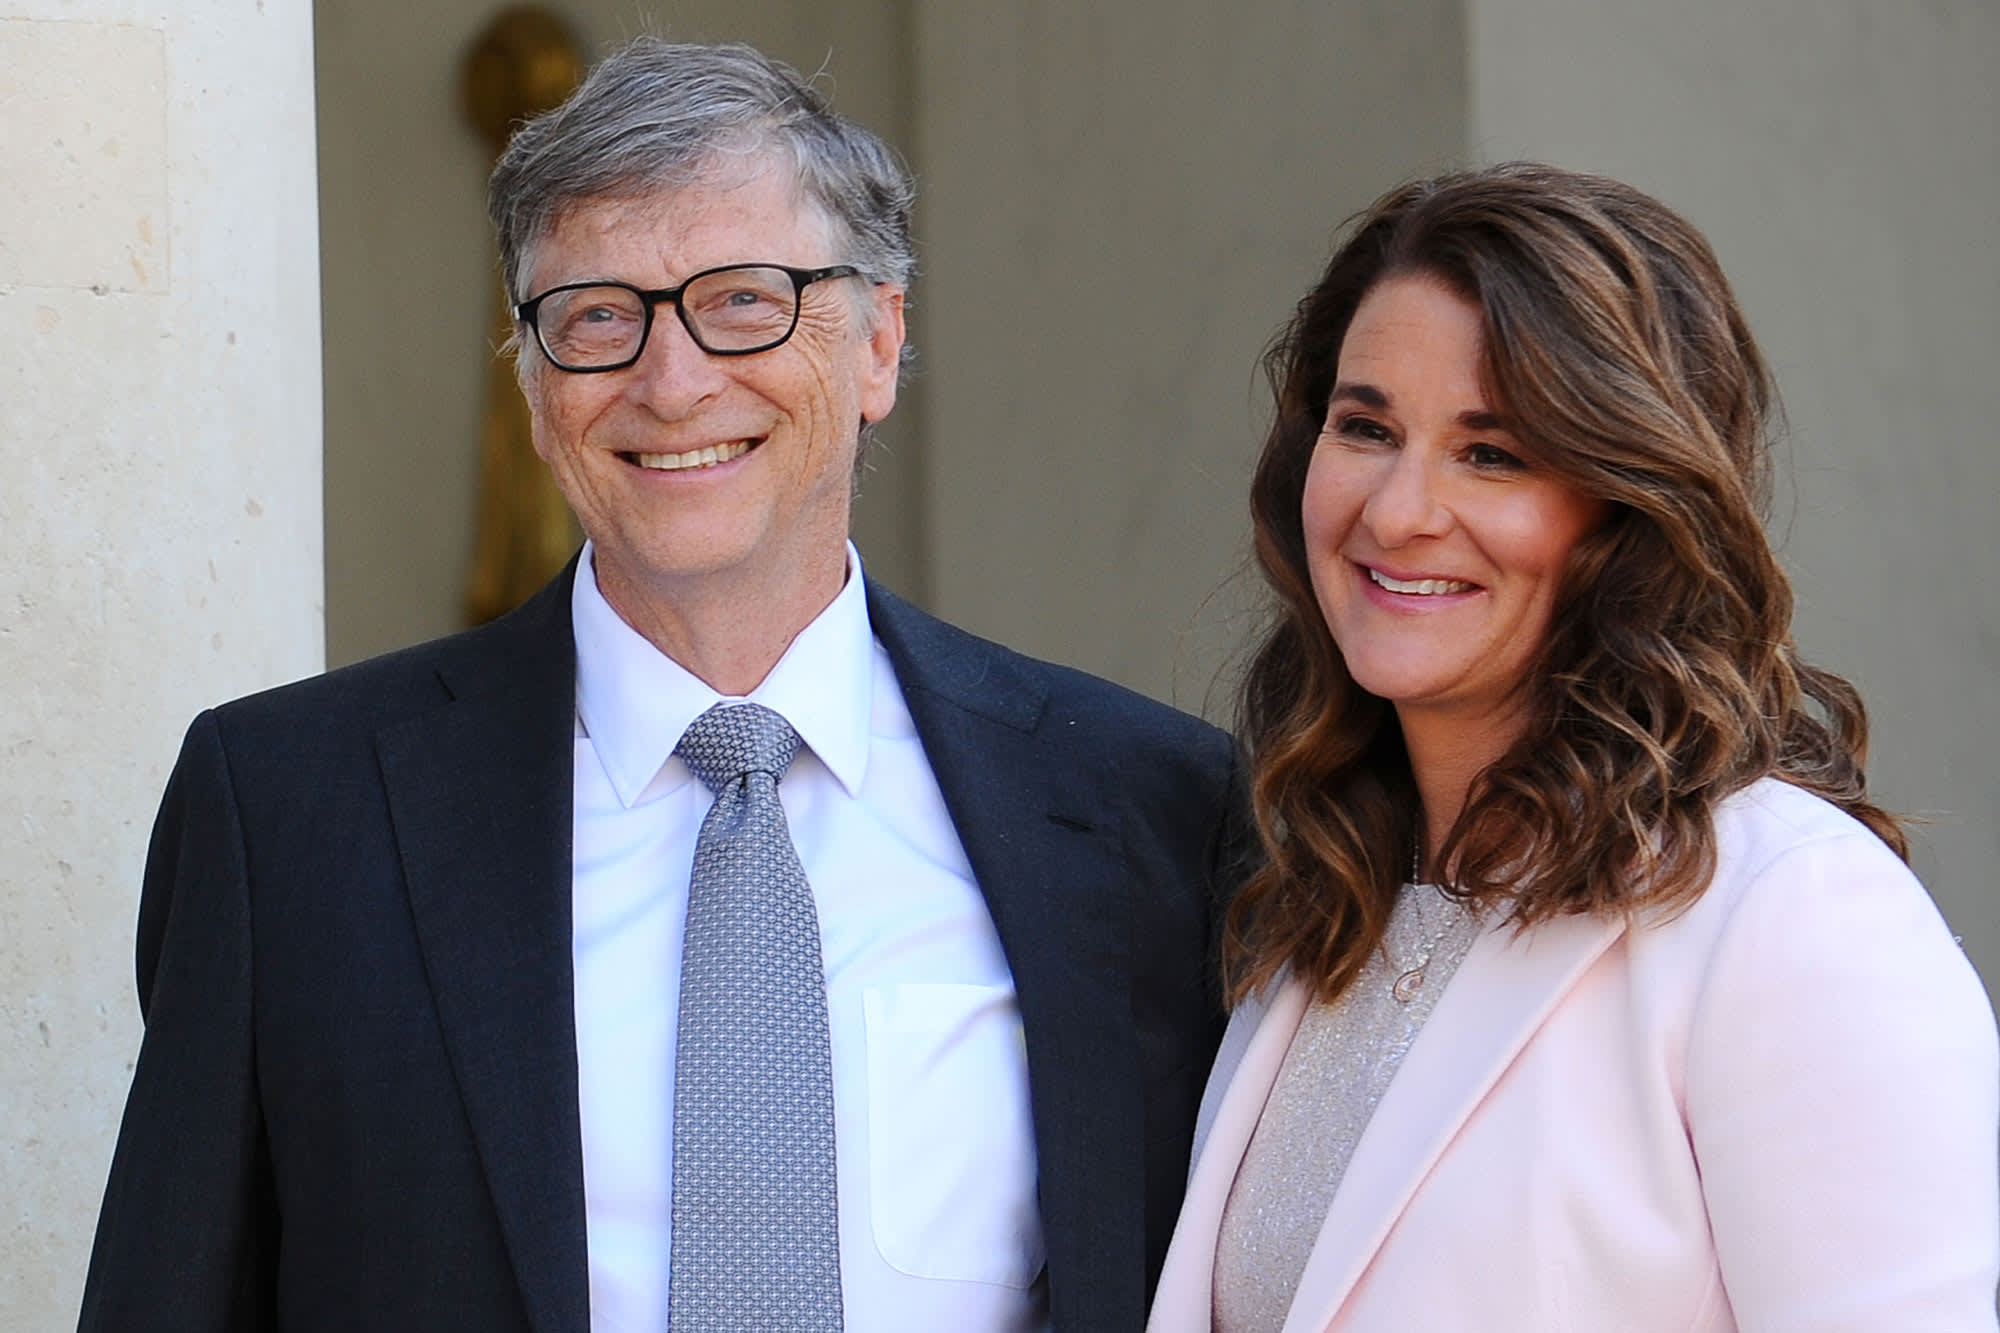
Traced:
<path fill-rule="evenodd" d="M 576 624 L 576 1073 L 592 1333 L 666 1329 L 674 1037 L 694 839 L 674 745 L 724 697 L 604 600 Z M 860 556 L 762 685 L 804 749 L 778 785 L 826 959 L 840 1289 L 854 1333 L 1048 1327 L 1014 979 L 944 811 Z"/>

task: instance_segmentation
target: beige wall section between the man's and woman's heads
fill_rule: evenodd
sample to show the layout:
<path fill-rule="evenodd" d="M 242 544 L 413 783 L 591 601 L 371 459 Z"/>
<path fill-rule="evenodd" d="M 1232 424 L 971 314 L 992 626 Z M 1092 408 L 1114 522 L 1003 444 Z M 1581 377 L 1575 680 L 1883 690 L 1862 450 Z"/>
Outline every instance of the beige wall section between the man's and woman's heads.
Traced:
<path fill-rule="evenodd" d="M 918 4 L 934 606 L 1186 709 L 1254 628 L 1258 352 L 1464 154 L 1456 0 Z"/>

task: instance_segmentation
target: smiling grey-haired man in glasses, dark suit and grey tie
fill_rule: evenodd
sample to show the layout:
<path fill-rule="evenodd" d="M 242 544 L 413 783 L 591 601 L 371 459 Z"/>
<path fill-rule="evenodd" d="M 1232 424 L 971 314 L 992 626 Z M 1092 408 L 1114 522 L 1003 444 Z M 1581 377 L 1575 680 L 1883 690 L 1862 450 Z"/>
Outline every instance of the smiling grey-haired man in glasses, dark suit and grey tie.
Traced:
<path fill-rule="evenodd" d="M 520 380 L 590 540 L 194 723 L 86 1329 L 1140 1327 L 1232 751 L 862 578 L 908 206 L 742 46 L 642 38 L 516 136 Z"/>

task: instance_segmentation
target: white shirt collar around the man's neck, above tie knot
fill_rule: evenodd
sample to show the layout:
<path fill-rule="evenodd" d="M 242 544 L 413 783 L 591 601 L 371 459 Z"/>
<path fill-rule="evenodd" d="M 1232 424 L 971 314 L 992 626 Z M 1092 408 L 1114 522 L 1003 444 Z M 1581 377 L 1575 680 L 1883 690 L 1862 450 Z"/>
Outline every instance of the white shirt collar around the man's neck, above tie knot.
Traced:
<path fill-rule="evenodd" d="M 624 807 L 692 781 L 674 759 L 682 733 L 730 699 L 660 652 L 612 610 L 584 544 L 570 590 L 576 632 L 576 717 Z M 874 630 L 862 556 L 848 542 L 848 578 L 826 610 L 798 632 L 746 699 L 776 711 L 850 797 L 868 769 Z"/>

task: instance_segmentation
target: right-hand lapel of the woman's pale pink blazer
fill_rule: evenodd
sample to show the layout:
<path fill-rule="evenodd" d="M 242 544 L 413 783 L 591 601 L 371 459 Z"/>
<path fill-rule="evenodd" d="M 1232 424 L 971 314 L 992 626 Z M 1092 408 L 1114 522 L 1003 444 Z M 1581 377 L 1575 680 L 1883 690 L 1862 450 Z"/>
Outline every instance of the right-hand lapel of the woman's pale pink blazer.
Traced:
<path fill-rule="evenodd" d="M 1284 1333 L 1332 1323 L 1466 1117 L 1620 935 L 1616 919 L 1560 917 L 1474 941 L 1354 1149 Z"/>

